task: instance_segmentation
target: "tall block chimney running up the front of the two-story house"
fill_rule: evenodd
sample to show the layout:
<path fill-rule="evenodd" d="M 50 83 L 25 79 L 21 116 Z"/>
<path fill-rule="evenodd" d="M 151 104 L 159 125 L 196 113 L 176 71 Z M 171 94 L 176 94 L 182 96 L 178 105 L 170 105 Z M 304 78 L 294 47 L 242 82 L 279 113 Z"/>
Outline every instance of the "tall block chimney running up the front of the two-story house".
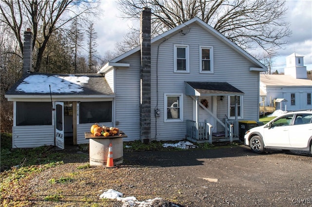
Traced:
<path fill-rule="evenodd" d="M 151 9 L 144 7 L 140 18 L 141 107 L 140 136 L 144 143 L 151 138 Z"/>

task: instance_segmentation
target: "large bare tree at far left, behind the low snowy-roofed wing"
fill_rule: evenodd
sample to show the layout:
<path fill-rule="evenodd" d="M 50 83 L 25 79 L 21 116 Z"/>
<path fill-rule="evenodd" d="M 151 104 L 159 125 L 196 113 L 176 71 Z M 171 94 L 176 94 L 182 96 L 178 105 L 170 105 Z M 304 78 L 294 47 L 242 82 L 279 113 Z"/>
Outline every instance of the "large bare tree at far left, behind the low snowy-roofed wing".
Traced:
<path fill-rule="evenodd" d="M 95 10 L 97 8 L 97 10 Z M 85 0 L 1 0 L 2 24 L 7 25 L 14 33 L 23 51 L 22 32 L 32 28 L 33 48 L 38 47 L 35 72 L 39 72 L 43 52 L 50 36 L 61 30 L 75 17 L 96 15 L 98 1 Z M 39 26 L 42 25 L 42 26 Z M 38 38 L 41 35 L 42 38 Z"/>

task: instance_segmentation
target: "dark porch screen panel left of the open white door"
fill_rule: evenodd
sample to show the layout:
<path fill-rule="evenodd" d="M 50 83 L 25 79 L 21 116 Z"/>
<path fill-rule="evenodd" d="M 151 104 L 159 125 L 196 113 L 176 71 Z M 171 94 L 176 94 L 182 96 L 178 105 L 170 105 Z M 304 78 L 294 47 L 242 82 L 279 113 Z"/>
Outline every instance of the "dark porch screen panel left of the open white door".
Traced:
<path fill-rule="evenodd" d="M 52 105 L 50 102 L 17 102 L 16 125 L 52 125 Z"/>

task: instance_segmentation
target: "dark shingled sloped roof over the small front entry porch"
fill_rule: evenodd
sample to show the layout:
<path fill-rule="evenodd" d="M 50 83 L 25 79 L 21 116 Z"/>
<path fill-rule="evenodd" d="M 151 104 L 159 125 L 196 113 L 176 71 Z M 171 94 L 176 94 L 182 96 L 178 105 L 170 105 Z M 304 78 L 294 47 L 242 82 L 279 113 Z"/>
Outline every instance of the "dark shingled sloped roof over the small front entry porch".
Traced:
<path fill-rule="evenodd" d="M 185 82 L 186 95 L 190 96 L 234 96 L 244 92 L 227 82 Z"/>

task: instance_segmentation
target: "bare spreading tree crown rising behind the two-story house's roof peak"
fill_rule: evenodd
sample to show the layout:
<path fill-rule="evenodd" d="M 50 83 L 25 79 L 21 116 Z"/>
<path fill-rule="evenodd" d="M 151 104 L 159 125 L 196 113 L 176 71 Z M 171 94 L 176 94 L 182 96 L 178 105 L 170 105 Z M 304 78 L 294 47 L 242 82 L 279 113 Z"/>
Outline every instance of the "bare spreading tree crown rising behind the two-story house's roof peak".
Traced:
<path fill-rule="evenodd" d="M 118 6 L 123 17 L 131 19 L 139 19 L 142 8 L 150 7 L 154 35 L 194 17 L 244 50 L 260 46 L 273 52 L 291 35 L 283 17 L 284 0 L 118 0 Z"/>

